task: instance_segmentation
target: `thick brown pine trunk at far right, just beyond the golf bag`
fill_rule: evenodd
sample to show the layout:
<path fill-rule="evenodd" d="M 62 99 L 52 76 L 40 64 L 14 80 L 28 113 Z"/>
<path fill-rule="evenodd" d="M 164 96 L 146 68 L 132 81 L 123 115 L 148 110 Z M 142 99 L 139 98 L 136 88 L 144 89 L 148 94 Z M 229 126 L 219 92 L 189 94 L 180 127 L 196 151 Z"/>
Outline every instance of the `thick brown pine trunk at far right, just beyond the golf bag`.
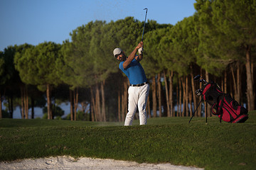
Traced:
<path fill-rule="evenodd" d="M 255 96 L 254 96 L 254 91 L 253 91 L 253 67 L 251 67 L 251 62 L 250 62 L 250 49 L 251 46 L 247 46 L 246 49 L 246 82 L 247 82 L 247 104 L 248 104 L 248 111 L 253 111 L 255 110 Z"/>

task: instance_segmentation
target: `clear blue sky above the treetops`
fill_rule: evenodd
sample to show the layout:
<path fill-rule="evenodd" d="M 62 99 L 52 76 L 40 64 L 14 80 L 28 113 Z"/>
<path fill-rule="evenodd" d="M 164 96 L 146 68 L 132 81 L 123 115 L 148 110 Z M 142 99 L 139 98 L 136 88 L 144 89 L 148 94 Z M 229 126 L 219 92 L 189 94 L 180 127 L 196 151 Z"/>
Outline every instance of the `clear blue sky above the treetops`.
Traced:
<path fill-rule="evenodd" d="M 133 16 L 175 25 L 196 12 L 196 0 L 0 0 L 0 51 L 9 45 L 62 44 L 90 21 Z"/>

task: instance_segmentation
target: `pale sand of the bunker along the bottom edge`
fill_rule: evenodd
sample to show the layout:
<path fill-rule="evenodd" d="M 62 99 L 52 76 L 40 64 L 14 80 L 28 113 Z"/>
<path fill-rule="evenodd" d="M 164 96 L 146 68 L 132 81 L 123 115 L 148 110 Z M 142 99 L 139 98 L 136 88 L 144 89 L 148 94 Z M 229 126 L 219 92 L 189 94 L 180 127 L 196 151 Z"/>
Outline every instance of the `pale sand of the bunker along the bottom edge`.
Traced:
<path fill-rule="evenodd" d="M 9 169 L 54 169 L 54 170 L 82 170 L 82 169 L 124 169 L 124 170 L 202 170 L 191 166 L 174 166 L 171 164 L 139 164 L 137 162 L 117 161 L 114 159 L 92 159 L 81 157 L 48 157 L 42 159 L 22 159 L 14 162 L 0 162 L 1 170 Z"/>

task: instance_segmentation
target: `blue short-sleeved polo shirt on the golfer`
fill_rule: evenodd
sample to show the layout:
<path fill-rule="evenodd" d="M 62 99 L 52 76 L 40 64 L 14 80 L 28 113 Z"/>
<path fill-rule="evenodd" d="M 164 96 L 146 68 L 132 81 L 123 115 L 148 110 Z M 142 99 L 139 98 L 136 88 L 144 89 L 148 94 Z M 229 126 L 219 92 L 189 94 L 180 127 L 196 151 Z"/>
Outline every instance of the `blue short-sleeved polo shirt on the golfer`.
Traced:
<path fill-rule="evenodd" d="M 130 84 L 142 84 L 147 81 L 144 69 L 137 60 L 132 60 L 126 69 L 124 69 L 123 64 L 124 62 L 120 62 L 119 69 L 127 75 Z"/>

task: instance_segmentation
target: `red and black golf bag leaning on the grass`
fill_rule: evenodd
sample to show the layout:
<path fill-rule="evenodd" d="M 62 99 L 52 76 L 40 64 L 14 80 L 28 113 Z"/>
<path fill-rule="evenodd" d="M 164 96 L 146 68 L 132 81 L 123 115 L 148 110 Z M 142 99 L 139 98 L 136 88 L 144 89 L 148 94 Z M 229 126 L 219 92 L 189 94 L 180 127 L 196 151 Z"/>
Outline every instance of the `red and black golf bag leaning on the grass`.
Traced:
<path fill-rule="evenodd" d="M 221 91 L 218 84 L 206 84 L 203 89 L 203 99 L 212 106 L 212 113 L 228 123 L 244 123 L 248 119 L 248 111 L 240 106 L 230 94 Z"/>

